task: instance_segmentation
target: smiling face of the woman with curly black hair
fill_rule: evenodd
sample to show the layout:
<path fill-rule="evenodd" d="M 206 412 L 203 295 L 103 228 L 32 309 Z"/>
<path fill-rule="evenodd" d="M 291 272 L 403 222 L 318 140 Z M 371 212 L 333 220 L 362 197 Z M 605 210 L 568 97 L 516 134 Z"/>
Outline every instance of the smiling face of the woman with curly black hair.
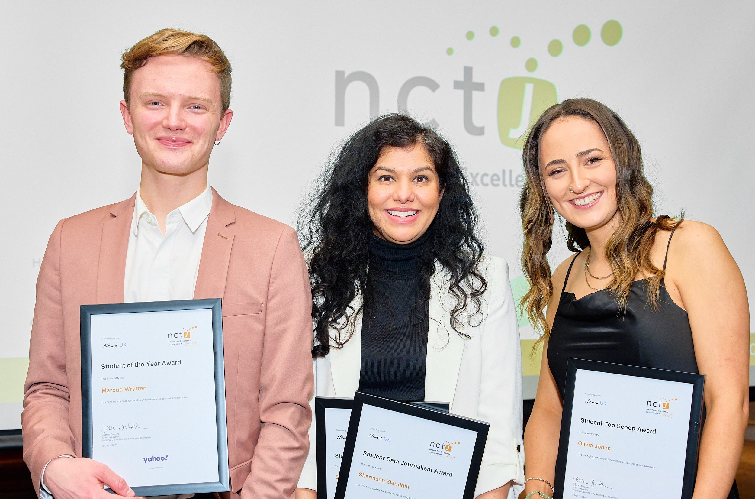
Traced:
<path fill-rule="evenodd" d="M 422 237 L 433 223 L 440 199 L 440 180 L 423 144 L 384 147 L 367 180 L 367 203 L 377 236 L 407 244 Z"/>

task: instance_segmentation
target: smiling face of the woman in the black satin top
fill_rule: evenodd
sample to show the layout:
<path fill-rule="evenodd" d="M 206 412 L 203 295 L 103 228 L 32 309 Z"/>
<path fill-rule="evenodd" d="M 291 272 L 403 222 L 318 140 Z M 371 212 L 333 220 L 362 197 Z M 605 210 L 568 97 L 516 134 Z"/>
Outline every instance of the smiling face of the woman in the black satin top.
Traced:
<path fill-rule="evenodd" d="M 596 122 L 577 116 L 553 122 L 540 141 L 540 165 L 550 201 L 567 222 L 588 232 L 615 225 L 616 165 Z"/>

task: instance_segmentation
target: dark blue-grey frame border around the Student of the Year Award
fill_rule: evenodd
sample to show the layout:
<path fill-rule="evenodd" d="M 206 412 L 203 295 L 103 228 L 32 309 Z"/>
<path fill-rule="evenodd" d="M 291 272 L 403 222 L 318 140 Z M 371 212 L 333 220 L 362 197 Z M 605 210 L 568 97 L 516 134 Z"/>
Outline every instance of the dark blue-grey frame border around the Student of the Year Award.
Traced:
<path fill-rule="evenodd" d="M 213 364 L 215 375 L 215 420 L 217 426 L 217 482 L 178 483 L 132 487 L 141 497 L 172 494 L 199 494 L 230 490 L 228 467 L 228 429 L 226 419 L 226 382 L 223 362 L 223 310 L 220 298 L 186 299 L 162 302 L 106 303 L 80 305 L 81 361 L 82 361 L 82 457 L 91 458 L 93 452 L 92 393 L 91 393 L 91 316 L 134 314 L 141 312 L 210 309 L 212 321 Z M 110 491 L 109 489 L 106 489 Z M 112 492 L 112 491 L 111 491 Z"/>

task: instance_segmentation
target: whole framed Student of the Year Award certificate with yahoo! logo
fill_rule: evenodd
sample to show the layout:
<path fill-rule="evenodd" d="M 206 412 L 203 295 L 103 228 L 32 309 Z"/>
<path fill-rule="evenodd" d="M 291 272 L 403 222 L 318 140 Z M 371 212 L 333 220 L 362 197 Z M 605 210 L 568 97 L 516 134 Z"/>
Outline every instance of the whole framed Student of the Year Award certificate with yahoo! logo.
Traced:
<path fill-rule="evenodd" d="M 220 299 L 82 305 L 84 457 L 137 496 L 229 490 Z"/>

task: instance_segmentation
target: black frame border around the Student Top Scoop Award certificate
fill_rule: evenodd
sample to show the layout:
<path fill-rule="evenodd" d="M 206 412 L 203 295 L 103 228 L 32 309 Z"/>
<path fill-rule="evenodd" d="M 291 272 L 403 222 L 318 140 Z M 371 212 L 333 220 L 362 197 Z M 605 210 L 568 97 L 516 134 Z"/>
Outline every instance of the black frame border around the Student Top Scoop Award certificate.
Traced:
<path fill-rule="evenodd" d="M 566 462 L 569 458 L 569 431 L 572 428 L 572 410 L 574 408 L 574 389 L 577 380 L 577 370 L 593 370 L 601 373 L 622 374 L 624 376 L 649 378 L 652 380 L 676 381 L 677 383 L 692 385 L 692 406 L 690 408 L 689 429 L 687 431 L 687 452 L 682 479 L 682 499 L 692 497 L 698 466 L 698 446 L 700 444 L 702 425 L 705 375 L 569 358 L 566 361 L 566 384 L 561 417 L 561 434 L 559 436 L 559 451 L 556 456 L 556 482 L 554 484 L 556 485 L 556 491 L 553 494 L 553 499 L 563 499 Z"/>

